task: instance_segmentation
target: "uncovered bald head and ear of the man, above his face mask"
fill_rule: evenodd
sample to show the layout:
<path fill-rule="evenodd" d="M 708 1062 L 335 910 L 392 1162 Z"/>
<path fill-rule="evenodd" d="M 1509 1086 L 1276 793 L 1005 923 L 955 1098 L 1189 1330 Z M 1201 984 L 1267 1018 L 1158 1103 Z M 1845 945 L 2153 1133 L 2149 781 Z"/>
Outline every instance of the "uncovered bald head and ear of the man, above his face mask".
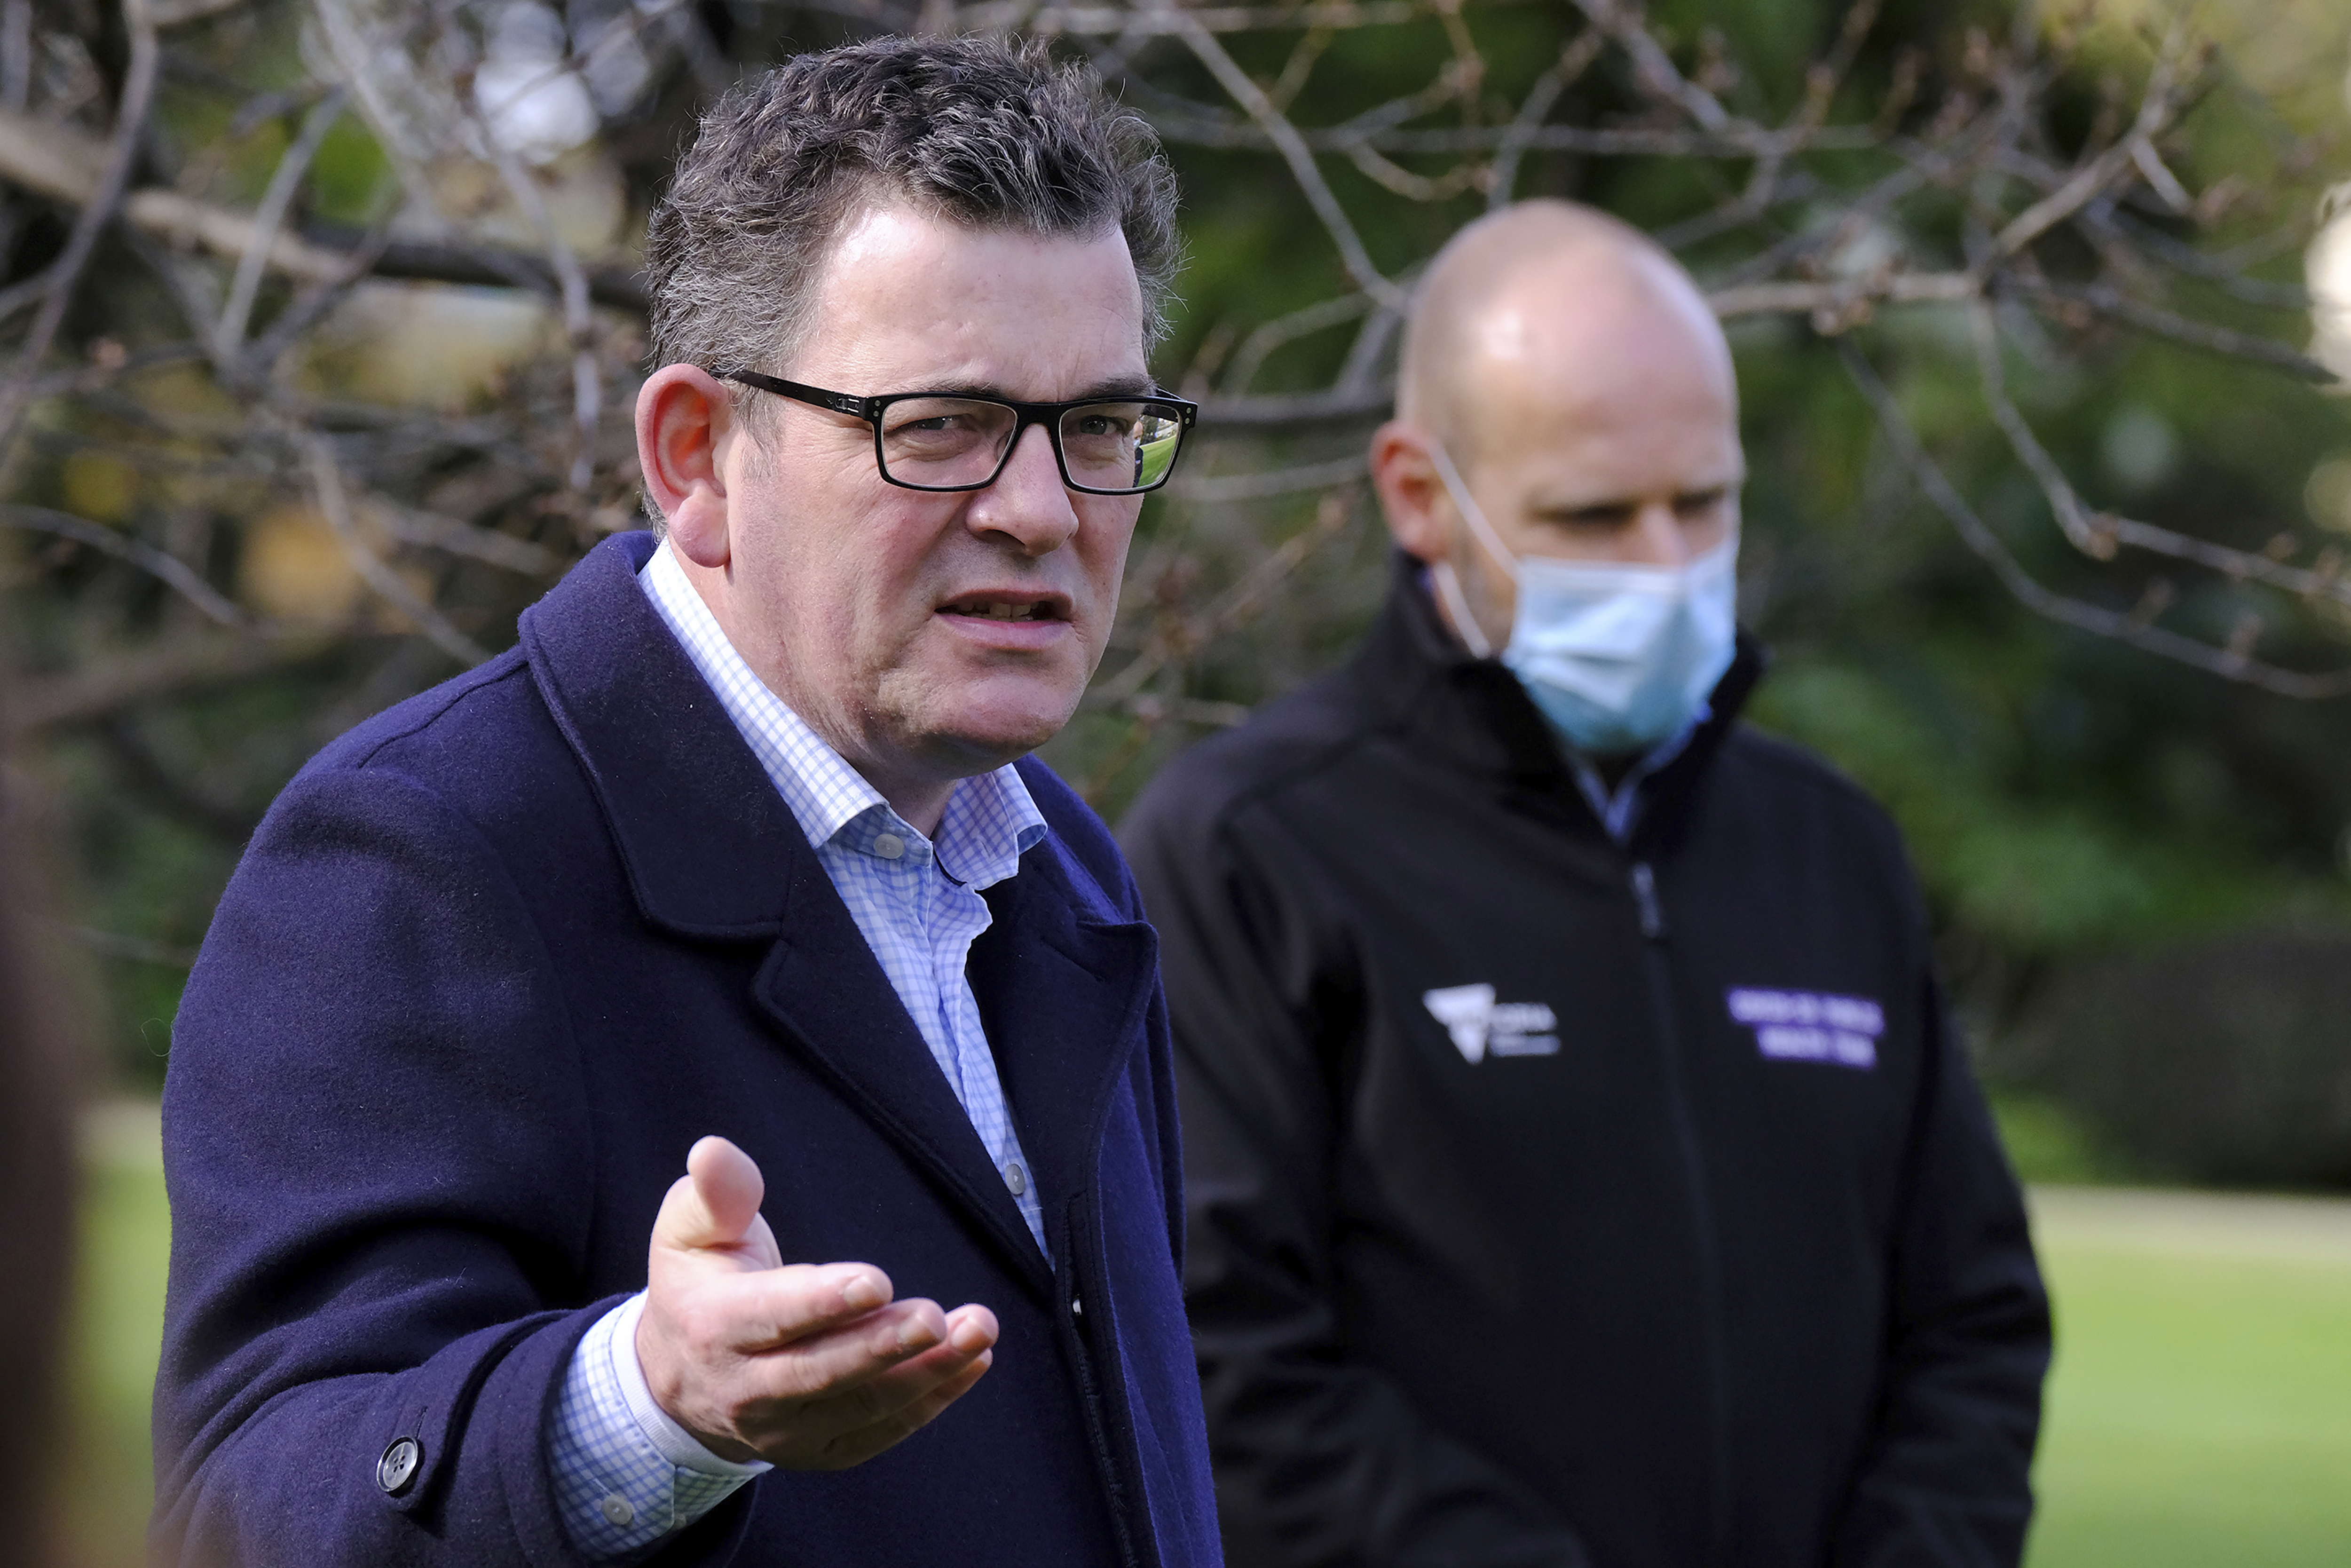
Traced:
<path fill-rule="evenodd" d="M 1396 543 L 1460 585 L 1446 618 L 1502 646 L 1523 557 L 1679 567 L 1735 538 L 1737 425 L 1730 346 L 1681 263 L 1608 214 L 1521 202 L 1429 266 L 1371 475 Z"/>

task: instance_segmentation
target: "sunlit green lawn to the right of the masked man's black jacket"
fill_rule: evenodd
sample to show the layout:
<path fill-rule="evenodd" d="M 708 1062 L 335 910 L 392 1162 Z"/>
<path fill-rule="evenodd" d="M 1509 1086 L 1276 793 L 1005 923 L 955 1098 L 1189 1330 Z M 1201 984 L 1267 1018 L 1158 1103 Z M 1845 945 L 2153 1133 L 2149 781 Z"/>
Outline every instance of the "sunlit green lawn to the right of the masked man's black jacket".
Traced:
<path fill-rule="evenodd" d="M 2034 1192 L 2057 1302 L 2029 1568 L 2351 1561 L 2351 1204 Z"/>

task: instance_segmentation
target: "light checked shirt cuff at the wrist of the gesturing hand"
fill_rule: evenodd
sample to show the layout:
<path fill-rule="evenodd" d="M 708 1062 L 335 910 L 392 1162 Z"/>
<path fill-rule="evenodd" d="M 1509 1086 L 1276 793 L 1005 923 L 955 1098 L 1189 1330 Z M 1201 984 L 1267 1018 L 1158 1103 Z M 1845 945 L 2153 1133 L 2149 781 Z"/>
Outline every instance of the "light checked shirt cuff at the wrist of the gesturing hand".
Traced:
<path fill-rule="evenodd" d="M 581 1338 L 548 1425 L 548 1476 L 571 1544 L 616 1561 L 691 1526 L 769 1465 L 734 1465 L 654 1403 L 637 1363 L 644 1295 Z"/>

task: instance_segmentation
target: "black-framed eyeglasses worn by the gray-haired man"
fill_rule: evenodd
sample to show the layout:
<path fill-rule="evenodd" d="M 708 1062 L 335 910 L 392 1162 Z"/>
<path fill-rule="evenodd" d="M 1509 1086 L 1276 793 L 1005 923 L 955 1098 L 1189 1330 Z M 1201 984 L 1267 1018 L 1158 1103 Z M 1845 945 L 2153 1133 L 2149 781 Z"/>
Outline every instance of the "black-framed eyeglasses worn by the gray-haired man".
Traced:
<path fill-rule="evenodd" d="M 1185 430 L 1199 418 L 1197 402 L 1161 393 L 1070 402 L 1011 402 L 966 393 L 853 397 L 748 369 L 712 374 L 863 418 L 875 430 L 882 477 L 900 489 L 987 489 L 1004 473 L 1020 435 L 1030 425 L 1044 425 L 1063 484 L 1089 496 L 1140 496 L 1168 482 Z"/>

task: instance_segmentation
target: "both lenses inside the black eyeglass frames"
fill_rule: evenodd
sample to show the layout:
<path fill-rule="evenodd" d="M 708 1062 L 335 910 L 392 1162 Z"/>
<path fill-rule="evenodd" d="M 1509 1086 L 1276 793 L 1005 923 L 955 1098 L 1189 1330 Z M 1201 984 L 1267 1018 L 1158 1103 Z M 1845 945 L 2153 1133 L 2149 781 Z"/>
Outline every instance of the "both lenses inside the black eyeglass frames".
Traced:
<path fill-rule="evenodd" d="M 882 473 L 898 484 L 964 489 L 1004 468 L 1020 416 L 978 397 L 903 397 L 882 411 Z M 1152 489 L 1176 463 L 1183 414 L 1161 402 L 1089 402 L 1060 416 L 1060 461 L 1077 489 Z"/>

